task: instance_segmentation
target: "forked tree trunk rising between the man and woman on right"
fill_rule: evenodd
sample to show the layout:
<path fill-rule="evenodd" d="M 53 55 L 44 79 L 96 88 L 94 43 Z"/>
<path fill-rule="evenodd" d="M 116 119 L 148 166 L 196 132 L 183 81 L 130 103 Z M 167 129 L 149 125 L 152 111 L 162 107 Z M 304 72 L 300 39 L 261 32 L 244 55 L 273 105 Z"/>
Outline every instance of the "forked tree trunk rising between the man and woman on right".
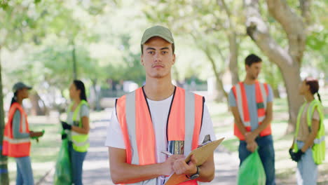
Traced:
<path fill-rule="evenodd" d="M 289 124 L 286 131 L 291 132 L 295 128 L 296 116 L 303 102 L 298 90 L 301 83 L 299 74 L 306 44 L 306 33 L 303 21 L 290 10 L 286 1 L 267 0 L 266 2 L 271 15 L 286 32 L 289 47 L 282 48 L 269 34 L 268 26 L 259 13 L 258 0 L 244 0 L 247 34 L 282 72 L 289 107 Z"/>

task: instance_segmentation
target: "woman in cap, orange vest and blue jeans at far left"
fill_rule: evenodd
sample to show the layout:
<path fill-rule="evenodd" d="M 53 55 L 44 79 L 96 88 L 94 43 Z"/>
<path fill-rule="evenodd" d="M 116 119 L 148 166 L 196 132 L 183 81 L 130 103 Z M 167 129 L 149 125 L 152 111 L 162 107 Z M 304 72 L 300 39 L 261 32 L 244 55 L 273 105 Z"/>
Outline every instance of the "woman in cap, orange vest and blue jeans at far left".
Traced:
<path fill-rule="evenodd" d="M 31 148 L 30 137 L 41 137 L 43 132 L 29 131 L 27 114 L 22 108 L 22 100 L 29 97 L 32 87 L 18 82 L 13 85 L 13 99 L 9 109 L 8 122 L 4 130 L 4 143 L 2 154 L 16 160 L 16 184 L 33 185 L 33 172 L 29 152 Z"/>

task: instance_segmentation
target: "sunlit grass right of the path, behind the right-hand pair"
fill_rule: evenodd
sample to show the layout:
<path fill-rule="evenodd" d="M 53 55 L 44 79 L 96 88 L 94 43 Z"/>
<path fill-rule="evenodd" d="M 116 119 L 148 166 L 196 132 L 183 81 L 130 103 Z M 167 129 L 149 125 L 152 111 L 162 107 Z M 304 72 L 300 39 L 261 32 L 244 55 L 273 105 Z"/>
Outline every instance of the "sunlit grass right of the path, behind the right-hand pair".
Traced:
<path fill-rule="evenodd" d="M 328 89 L 322 90 L 322 104 L 328 106 Z M 226 104 L 207 102 L 217 135 L 224 135 L 223 146 L 232 153 L 238 153 L 239 141 L 233 136 L 233 116 L 228 112 Z M 327 108 L 326 108 L 327 109 Z M 326 111 L 327 112 L 327 111 Z M 271 124 L 275 148 L 275 174 L 278 184 L 296 184 L 296 163 L 289 158 L 289 147 L 292 145 L 293 135 L 285 135 L 288 119 L 287 99 L 275 99 L 273 102 L 274 119 Z M 324 125 L 328 135 L 328 114 L 325 115 Z M 326 143 L 328 144 L 327 140 Z M 238 155 L 235 155 L 238 156 Z M 325 163 L 318 166 L 319 177 L 317 184 L 328 184 L 328 145 Z"/>

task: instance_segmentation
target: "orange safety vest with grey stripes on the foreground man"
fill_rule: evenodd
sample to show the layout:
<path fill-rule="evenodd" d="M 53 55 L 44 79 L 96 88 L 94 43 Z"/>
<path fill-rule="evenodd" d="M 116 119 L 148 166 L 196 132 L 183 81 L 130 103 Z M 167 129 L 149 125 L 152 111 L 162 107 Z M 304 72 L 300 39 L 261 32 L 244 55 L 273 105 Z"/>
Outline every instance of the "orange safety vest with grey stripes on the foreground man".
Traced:
<path fill-rule="evenodd" d="M 168 142 L 184 141 L 184 155 L 198 147 L 203 121 L 204 97 L 175 87 L 170 106 L 166 135 Z M 156 164 L 156 140 L 151 114 L 143 88 L 116 100 L 116 116 L 125 142 L 127 163 Z M 156 184 L 149 179 L 144 184 Z M 197 184 L 196 180 L 181 184 Z"/>

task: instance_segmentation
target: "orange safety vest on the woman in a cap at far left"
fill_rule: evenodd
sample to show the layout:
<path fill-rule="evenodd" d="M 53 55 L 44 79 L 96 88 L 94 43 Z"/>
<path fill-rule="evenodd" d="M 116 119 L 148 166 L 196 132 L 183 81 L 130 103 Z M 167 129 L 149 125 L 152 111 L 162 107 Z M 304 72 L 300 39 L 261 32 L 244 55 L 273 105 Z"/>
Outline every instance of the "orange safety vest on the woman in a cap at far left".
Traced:
<path fill-rule="evenodd" d="M 4 130 L 4 143 L 2 154 L 13 158 L 21 158 L 29 156 L 31 142 L 28 138 L 15 139 L 13 137 L 13 116 L 15 111 L 20 111 L 20 132 L 29 133 L 29 123 L 27 122 L 27 114 L 22 106 L 15 102 L 9 109 L 8 122 Z"/>

